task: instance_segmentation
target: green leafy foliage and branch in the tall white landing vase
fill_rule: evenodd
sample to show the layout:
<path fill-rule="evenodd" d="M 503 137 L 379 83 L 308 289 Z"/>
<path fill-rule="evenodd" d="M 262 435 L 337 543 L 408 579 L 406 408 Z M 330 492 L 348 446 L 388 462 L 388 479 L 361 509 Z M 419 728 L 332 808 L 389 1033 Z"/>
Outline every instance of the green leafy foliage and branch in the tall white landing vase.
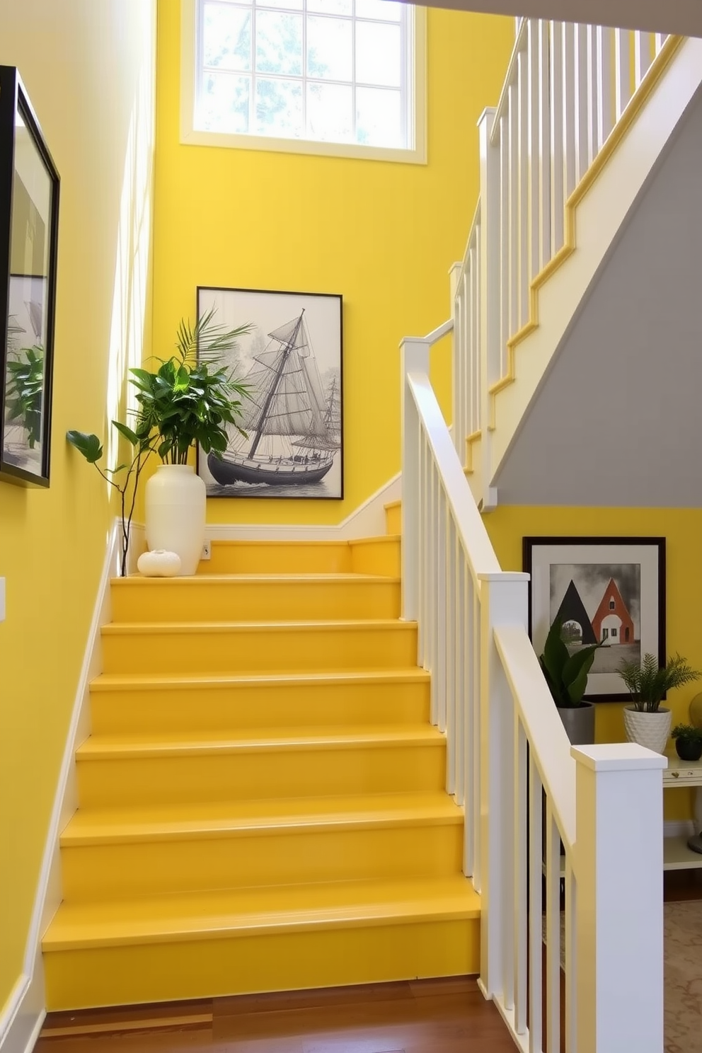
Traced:
<path fill-rule="evenodd" d="M 228 443 L 226 425 L 241 432 L 237 418 L 242 413 L 242 399 L 249 397 L 248 386 L 234 379 L 224 358 L 252 326 L 227 330 L 213 321 L 214 315 L 212 309 L 195 325 L 181 320 L 175 354 L 156 358 L 160 365 L 155 372 L 129 370 L 129 382 L 137 390 L 134 428 L 119 420 L 112 422 L 132 448 L 128 461 L 103 471 L 98 464 L 103 453 L 98 436 L 66 433 L 68 442 L 120 495 L 123 577 L 137 489 L 151 454 L 158 454 L 164 463 L 185 464 L 188 452 L 199 442 L 206 454 L 221 457 Z"/>

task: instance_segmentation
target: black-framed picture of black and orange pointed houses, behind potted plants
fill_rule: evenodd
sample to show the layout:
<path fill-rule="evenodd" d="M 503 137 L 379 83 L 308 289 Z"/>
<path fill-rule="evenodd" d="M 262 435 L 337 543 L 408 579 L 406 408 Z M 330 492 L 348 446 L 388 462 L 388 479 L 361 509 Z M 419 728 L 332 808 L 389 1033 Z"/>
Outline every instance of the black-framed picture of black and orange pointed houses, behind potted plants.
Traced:
<path fill-rule="evenodd" d="M 629 701 L 616 672 L 622 660 L 649 652 L 665 664 L 664 537 L 524 537 L 522 565 L 537 654 L 558 616 L 574 627 L 574 645 L 619 641 L 596 652 L 586 701 Z"/>

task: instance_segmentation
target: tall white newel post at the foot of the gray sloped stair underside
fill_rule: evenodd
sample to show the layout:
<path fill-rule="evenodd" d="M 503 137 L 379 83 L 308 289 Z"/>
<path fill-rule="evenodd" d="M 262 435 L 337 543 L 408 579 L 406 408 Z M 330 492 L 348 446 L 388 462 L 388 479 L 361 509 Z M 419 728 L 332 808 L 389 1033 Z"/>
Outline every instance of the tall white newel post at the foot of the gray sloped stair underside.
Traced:
<path fill-rule="evenodd" d="M 493 146 L 490 135 L 495 108 L 483 110 L 478 121 L 480 139 L 480 455 L 482 460 L 483 512 L 497 505 L 497 491 L 489 485 L 493 478 L 490 458 L 489 389 L 502 373 L 500 346 L 500 147 Z"/>

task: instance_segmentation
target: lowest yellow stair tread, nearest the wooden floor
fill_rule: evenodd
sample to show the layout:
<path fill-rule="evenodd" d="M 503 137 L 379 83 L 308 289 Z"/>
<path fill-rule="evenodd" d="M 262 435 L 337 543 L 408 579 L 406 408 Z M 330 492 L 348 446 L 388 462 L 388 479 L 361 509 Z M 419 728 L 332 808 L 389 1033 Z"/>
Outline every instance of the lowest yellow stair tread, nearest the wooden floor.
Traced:
<path fill-rule="evenodd" d="M 480 897 L 462 875 L 268 886 L 62 903 L 42 947 L 85 950 L 479 916 Z"/>

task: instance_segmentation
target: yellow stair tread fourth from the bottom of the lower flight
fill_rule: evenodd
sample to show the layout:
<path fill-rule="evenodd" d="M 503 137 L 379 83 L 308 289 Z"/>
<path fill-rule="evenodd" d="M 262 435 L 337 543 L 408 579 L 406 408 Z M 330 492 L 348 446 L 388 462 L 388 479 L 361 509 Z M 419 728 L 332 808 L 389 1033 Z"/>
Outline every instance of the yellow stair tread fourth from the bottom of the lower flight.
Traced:
<path fill-rule="evenodd" d="M 187 690 L 190 688 L 230 688 L 236 686 L 247 688 L 268 688 L 279 684 L 285 687 L 334 687 L 340 683 L 356 683 L 364 687 L 370 683 L 414 683 L 429 680 L 429 674 L 424 669 L 410 667 L 408 669 L 340 669 L 323 673 L 183 673 L 169 676 L 167 673 L 101 673 L 91 681 L 92 691 L 114 691 L 115 689 Z"/>

